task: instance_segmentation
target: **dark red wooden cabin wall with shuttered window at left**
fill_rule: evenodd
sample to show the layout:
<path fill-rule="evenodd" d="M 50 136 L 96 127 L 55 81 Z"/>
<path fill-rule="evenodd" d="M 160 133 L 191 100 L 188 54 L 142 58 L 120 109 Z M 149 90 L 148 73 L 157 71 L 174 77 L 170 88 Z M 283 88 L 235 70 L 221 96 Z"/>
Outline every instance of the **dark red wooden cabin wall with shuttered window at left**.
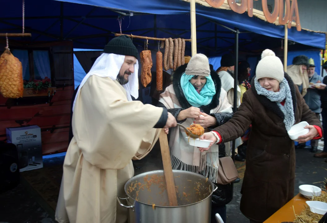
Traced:
<path fill-rule="evenodd" d="M 0 43 L 0 49 L 4 49 L 3 44 Z M 6 128 L 38 125 L 42 132 L 43 155 L 66 151 L 74 93 L 73 43 L 11 41 L 9 48 L 11 51 L 27 50 L 26 69 L 29 69 L 29 80 L 32 81 L 37 73 L 33 52 L 48 51 L 51 87 L 40 91 L 25 88 L 24 97 L 20 99 L 7 99 L 0 94 L 0 140 L 6 139 Z"/>

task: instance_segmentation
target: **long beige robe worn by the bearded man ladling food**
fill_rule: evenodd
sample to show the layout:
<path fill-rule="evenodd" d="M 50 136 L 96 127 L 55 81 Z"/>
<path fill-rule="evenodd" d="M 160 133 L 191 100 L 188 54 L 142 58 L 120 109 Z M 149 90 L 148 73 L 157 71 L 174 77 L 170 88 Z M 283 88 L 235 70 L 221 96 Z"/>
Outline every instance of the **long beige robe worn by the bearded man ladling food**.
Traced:
<path fill-rule="evenodd" d="M 74 137 L 63 164 L 56 220 L 59 223 L 123 223 L 117 204 L 134 175 L 131 159 L 146 156 L 159 138 L 153 126 L 163 109 L 128 101 L 110 78 L 91 76 L 77 95 Z"/>

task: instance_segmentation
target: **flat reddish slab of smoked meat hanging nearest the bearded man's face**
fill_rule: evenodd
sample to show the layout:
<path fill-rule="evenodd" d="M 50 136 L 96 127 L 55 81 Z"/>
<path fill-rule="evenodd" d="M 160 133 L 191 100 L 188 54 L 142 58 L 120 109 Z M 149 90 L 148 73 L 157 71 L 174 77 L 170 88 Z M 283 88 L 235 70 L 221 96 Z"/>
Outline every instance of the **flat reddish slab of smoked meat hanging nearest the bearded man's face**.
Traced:
<path fill-rule="evenodd" d="M 143 50 L 140 53 L 141 57 L 141 83 L 144 87 L 150 84 L 152 75 L 151 75 L 151 67 L 152 67 L 152 58 L 150 50 Z"/>

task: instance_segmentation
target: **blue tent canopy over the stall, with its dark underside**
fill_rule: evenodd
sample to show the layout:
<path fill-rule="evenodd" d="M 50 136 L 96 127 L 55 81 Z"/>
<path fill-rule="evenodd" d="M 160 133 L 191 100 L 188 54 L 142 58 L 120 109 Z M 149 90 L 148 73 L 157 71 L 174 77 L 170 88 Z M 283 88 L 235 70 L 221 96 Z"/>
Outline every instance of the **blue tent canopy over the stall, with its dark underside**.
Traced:
<path fill-rule="evenodd" d="M 3 7 L 10 10 L 1 13 L 1 32 L 21 32 L 22 7 L 19 3 L 20 1 L 16 0 L 4 2 Z M 190 4 L 179 0 L 26 0 L 25 32 L 31 32 L 32 37 L 15 39 L 72 40 L 74 48 L 103 49 L 114 33 L 120 32 L 117 18 L 121 14 L 111 9 L 134 11 L 133 16 L 129 16 L 129 12 L 123 16 L 122 33 L 159 38 L 189 39 L 191 36 Z M 280 38 L 284 38 L 283 26 L 276 26 L 255 17 L 250 18 L 246 13 L 238 14 L 231 10 L 201 5 L 196 6 L 196 12 L 198 52 L 208 56 L 221 55 L 234 49 L 234 33 L 216 23 L 240 29 L 240 51 L 251 52 L 280 47 Z M 323 33 L 305 30 L 298 32 L 296 28 L 289 30 L 288 38 L 299 43 L 296 46 L 301 49 L 322 49 L 326 41 Z M 144 47 L 144 40 L 134 39 L 133 42 Z M 187 44 L 187 49 L 190 50 L 190 43 Z M 149 41 L 148 47 L 156 49 L 157 45 L 156 42 Z M 190 55 L 190 52 L 186 52 L 186 55 Z"/>

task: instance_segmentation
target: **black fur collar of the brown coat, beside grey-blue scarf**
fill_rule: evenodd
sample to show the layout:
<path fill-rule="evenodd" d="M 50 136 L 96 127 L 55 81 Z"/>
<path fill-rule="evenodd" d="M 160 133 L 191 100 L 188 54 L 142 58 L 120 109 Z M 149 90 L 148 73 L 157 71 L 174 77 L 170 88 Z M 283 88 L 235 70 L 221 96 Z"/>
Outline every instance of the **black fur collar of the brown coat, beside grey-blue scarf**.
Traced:
<path fill-rule="evenodd" d="M 297 103 L 296 103 L 296 91 L 295 91 L 294 83 L 293 83 L 291 77 L 288 76 L 287 73 L 284 73 L 284 77 L 288 82 L 289 88 L 291 89 L 291 95 L 292 95 L 292 100 L 293 100 L 293 110 L 294 110 L 294 114 L 296 114 L 295 111 L 296 111 Z M 263 95 L 258 95 L 257 90 L 254 87 L 254 81 L 255 81 L 255 76 L 251 80 L 251 90 L 252 90 L 253 94 L 255 95 L 255 97 L 259 100 L 259 102 L 261 104 L 263 104 L 267 108 L 267 110 L 271 110 L 278 117 L 280 117 L 282 120 L 284 120 L 284 114 L 283 114 L 282 110 L 278 107 L 276 102 L 270 101 Z"/>

